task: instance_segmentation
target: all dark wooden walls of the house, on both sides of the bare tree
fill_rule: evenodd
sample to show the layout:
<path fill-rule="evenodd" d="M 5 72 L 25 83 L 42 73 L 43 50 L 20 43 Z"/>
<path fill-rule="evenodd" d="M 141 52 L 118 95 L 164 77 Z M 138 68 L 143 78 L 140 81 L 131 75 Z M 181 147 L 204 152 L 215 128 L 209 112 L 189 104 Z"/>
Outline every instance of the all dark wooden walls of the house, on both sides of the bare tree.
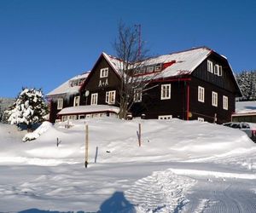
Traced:
<path fill-rule="evenodd" d="M 207 61 L 212 66 L 222 67 L 221 75 L 207 71 Z M 101 70 L 108 68 L 108 76 L 101 77 Z M 161 100 L 161 85 L 171 84 L 171 98 Z M 106 55 L 100 55 L 93 66 L 88 78 L 79 89 L 79 94 L 69 95 L 63 102 L 63 107 L 73 107 L 74 96 L 80 96 L 79 105 L 90 105 L 91 95 L 97 94 L 97 105 L 107 105 L 106 93 L 115 91 L 115 101 L 112 106 L 119 107 L 120 77 Z M 204 89 L 204 101 L 198 100 L 198 87 Z M 236 78 L 228 61 L 216 52 L 211 51 L 207 58 L 194 68 L 193 72 L 180 76 L 155 78 L 143 89 L 141 102 L 131 107 L 133 117 L 144 118 L 180 118 L 183 120 L 201 119 L 210 123 L 223 124 L 230 122 L 235 112 L 235 98 L 241 95 Z M 217 106 L 212 105 L 212 92 L 218 94 Z M 87 94 L 87 95 L 85 95 Z M 224 108 L 224 96 L 228 99 L 228 107 Z M 57 102 L 51 102 L 50 121 L 54 122 L 60 110 L 56 108 Z"/>

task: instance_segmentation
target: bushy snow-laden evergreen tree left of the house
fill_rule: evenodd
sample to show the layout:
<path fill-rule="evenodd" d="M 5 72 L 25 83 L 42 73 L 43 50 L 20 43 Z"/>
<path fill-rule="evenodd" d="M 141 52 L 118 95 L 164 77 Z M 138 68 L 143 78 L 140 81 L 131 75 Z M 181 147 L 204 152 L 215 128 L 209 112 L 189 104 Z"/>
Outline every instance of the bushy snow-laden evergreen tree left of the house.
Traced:
<path fill-rule="evenodd" d="M 41 89 L 22 89 L 14 105 L 6 111 L 9 115 L 10 124 L 26 124 L 30 130 L 32 124 L 44 121 L 44 115 L 48 107 L 44 101 Z"/>

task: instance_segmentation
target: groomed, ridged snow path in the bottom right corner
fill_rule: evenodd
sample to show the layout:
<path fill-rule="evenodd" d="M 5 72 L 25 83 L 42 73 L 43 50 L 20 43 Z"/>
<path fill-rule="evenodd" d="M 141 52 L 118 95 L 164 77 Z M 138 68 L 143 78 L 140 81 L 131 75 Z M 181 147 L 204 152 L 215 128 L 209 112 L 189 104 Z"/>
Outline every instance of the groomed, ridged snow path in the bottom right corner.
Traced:
<path fill-rule="evenodd" d="M 256 194 L 252 190 L 255 180 L 208 178 L 197 181 L 186 196 L 189 203 L 183 213 L 256 212 Z"/>

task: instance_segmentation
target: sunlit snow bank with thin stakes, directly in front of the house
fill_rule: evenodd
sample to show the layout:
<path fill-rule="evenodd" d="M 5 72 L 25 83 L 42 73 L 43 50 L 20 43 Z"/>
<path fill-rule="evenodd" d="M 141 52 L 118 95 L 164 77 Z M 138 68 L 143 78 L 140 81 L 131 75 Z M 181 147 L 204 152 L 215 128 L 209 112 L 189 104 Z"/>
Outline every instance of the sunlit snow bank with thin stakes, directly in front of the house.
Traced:
<path fill-rule="evenodd" d="M 195 162 L 226 158 L 255 148 L 253 141 L 240 130 L 198 121 L 90 118 L 86 124 L 90 162 Z M 142 125 L 142 147 L 137 141 L 138 124 Z M 9 156 L 19 158 L 22 153 L 24 158 L 33 159 L 26 160 L 29 164 L 83 163 L 84 120 L 73 121 L 70 129 L 65 126 L 66 123 L 53 126 L 44 122 L 23 138 L 23 141 L 37 139 L 37 143 L 17 146 L 19 150 L 9 150 Z"/>

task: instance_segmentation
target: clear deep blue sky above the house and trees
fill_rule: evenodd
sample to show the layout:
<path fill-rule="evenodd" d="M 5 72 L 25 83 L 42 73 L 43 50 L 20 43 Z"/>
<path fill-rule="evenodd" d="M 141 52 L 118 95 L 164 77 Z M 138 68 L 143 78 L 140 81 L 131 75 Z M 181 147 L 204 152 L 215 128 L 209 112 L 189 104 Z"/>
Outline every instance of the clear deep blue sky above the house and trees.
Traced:
<path fill-rule="evenodd" d="M 0 0 L 0 97 L 47 94 L 115 55 L 119 20 L 142 25 L 151 55 L 207 46 L 235 72 L 256 69 L 254 0 Z"/>

